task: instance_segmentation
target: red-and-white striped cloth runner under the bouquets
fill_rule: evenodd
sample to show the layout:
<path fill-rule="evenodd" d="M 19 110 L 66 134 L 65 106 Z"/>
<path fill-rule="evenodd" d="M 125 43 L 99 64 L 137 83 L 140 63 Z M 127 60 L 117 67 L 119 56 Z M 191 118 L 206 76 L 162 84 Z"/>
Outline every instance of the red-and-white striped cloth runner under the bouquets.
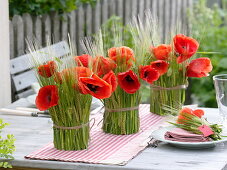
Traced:
<path fill-rule="evenodd" d="M 103 133 L 102 114 L 96 114 L 96 125 L 91 130 L 89 147 L 81 151 L 56 150 L 53 143 L 25 156 L 27 159 L 56 160 L 66 162 L 84 162 L 109 165 L 125 165 L 140 151 L 144 150 L 152 131 L 156 130 L 165 120 L 164 117 L 150 113 L 149 105 L 140 105 L 140 131 L 132 135 L 111 135 Z M 91 116 L 91 118 L 93 118 Z"/>

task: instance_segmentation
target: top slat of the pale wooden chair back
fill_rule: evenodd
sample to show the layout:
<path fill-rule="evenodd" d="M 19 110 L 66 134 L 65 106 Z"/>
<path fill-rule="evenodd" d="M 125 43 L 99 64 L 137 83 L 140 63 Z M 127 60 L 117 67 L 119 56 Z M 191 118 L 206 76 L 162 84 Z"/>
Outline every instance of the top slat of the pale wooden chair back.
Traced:
<path fill-rule="evenodd" d="M 53 54 L 55 54 L 55 57 L 61 57 L 65 54 L 69 53 L 69 46 L 68 44 L 63 41 L 63 42 L 59 42 L 56 43 L 54 45 L 51 45 L 50 47 L 46 47 L 46 48 L 42 48 L 40 50 L 37 51 L 37 53 L 42 53 L 43 55 L 45 55 L 46 53 L 48 53 L 50 50 Z M 43 62 L 47 61 L 50 59 L 50 56 L 48 54 L 46 54 L 46 57 L 43 57 Z M 49 57 L 48 57 L 49 56 Z M 22 71 L 25 71 L 27 69 L 30 68 L 30 59 L 31 59 L 31 54 L 26 54 L 20 57 L 16 57 L 14 59 L 10 60 L 10 74 L 16 74 Z"/>

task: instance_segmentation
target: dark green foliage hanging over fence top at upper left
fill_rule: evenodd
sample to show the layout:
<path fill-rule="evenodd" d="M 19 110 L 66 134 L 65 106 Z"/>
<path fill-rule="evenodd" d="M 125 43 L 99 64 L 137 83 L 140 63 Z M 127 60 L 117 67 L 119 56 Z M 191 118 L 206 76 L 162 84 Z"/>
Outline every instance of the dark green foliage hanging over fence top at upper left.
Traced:
<path fill-rule="evenodd" d="M 9 0 L 9 14 L 21 15 L 30 13 L 42 15 L 52 11 L 59 13 L 75 10 L 79 5 L 94 5 L 97 0 Z"/>

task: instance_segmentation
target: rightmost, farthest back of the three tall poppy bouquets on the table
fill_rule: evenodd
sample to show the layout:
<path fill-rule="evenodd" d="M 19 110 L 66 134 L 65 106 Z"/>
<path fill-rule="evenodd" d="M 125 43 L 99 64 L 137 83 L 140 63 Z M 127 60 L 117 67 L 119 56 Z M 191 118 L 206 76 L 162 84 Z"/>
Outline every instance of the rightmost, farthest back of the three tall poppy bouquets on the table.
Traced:
<path fill-rule="evenodd" d="M 145 22 L 134 19 L 132 35 L 135 50 L 145 56 L 146 67 L 141 67 L 145 79 L 150 83 L 150 111 L 159 115 L 169 114 L 164 108 L 181 109 L 185 100 L 188 77 L 205 77 L 212 70 L 209 58 L 192 60 L 197 53 L 199 43 L 184 34 L 176 34 L 168 38 L 166 44 L 161 43 L 158 24 L 150 13 L 146 13 Z M 154 73 L 153 69 L 158 73 Z"/>

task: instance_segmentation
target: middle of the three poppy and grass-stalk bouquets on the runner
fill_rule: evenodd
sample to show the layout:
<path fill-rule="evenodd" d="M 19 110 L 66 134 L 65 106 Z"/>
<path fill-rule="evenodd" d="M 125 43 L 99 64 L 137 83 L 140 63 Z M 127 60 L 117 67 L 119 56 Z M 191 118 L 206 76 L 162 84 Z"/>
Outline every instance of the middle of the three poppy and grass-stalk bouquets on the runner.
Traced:
<path fill-rule="evenodd" d="M 117 37 L 118 35 L 116 35 Z M 105 112 L 102 129 L 111 134 L 133 134 L 139 131 L 140 80 L 135 54 L 116 38 L 115 47 L 104 51 L 102 33 L 85 39 L 86 53 L 93 56 L 93 71 L 112 85 L 112 94 L 102 100 Z"/>

